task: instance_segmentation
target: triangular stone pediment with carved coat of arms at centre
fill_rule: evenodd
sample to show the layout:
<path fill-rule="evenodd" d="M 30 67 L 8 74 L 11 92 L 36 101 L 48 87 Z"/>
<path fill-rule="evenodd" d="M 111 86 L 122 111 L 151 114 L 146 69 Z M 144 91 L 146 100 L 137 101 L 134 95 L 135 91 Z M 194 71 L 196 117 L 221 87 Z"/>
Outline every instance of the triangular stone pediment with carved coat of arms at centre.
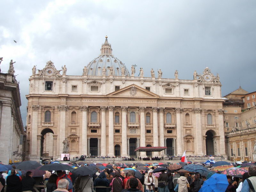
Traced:
<path fill-rule="evenodd" d="M 118 91 L 109 93 L 108 97 L 159 98 L 159 95 L 132 84 Z"/>

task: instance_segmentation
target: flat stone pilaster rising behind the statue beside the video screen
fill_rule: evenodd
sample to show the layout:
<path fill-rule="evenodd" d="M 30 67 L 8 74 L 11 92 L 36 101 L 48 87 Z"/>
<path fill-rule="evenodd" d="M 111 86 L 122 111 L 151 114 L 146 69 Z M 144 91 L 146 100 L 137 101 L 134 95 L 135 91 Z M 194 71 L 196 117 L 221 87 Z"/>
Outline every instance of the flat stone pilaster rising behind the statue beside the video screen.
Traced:
<path fill-rule="evenodd" d="M 60 140 L 59 140 L 59 144 L 60 144 L 60 148 L 59 148 L 59 157 L 61 155 L 61 153 L 63 152 L 63 143 L 61 141 L 65 140 L 65 133 L 66 133 L 66 110 L 68 110 L 69 106 L 67 105 L 59 105 L 57 106 L 58 111 L 60 111 Z"/>

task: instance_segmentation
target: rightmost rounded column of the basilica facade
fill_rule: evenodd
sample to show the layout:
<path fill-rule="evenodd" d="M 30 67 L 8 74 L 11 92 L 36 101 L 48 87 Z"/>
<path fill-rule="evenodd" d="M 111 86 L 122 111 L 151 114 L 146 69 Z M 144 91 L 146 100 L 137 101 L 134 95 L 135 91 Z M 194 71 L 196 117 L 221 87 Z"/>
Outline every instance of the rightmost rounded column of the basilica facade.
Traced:
<path fill-rule="evenodd" d="M 181 133 L 181 121 L 180 121 L 180 113 L 183 111 L 183 108 L 175 108 L 176 111 L 176 134 L 177 134 L 177 155 L 180 156 L 183 154 L 182 151 L 182 142 L 183 135 Z"/>

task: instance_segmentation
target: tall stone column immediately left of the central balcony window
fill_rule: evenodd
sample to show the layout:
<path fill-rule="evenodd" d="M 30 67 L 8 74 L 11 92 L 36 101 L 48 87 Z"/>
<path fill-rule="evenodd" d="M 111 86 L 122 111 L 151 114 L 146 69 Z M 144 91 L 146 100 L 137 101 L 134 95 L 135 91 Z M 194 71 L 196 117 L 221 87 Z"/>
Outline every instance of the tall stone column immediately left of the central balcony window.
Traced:
<path fill-rule="evenodd" d="M 127 157 L 127 123 L 126 123 L 126 112 L 127 106 L 121 106 L 122 109 L 122 152 L 121 156 Z"/>

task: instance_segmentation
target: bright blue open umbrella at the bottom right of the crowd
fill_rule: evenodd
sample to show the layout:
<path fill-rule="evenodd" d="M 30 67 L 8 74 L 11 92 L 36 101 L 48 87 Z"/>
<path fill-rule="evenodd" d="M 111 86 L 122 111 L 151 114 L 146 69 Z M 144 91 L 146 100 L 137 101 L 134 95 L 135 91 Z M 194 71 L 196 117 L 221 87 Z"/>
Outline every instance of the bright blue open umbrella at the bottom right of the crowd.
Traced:
<path fill-rule="evenodd" d="M 213 174 L 208 180 L 204 181 L 198 192 L 225 192 L 228 187 L 228 180 L 226 175 L 222 175 Z"/>

